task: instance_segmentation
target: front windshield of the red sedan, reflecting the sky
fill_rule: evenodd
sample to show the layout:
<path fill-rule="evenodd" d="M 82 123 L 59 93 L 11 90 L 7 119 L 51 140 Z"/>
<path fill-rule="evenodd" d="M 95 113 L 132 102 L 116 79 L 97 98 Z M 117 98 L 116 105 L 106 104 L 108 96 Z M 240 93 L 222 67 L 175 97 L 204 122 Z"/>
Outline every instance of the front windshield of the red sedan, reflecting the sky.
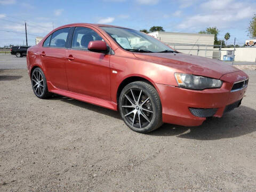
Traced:
<path fill-rule="evenodd" d="M 123 49 L 133 52 L 175 52 L 154 37 L 133 29 L 101 27 Z"/>

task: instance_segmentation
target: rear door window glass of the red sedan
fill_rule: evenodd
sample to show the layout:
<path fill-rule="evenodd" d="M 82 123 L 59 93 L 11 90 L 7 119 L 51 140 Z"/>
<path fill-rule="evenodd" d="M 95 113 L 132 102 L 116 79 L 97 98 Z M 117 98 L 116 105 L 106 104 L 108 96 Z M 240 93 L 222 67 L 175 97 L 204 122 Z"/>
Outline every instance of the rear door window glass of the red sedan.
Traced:
<path fill-rule="evenodd" d="M 63 28 L 52 34 L 50 47 L 66 47 L 69 28 Z"/>

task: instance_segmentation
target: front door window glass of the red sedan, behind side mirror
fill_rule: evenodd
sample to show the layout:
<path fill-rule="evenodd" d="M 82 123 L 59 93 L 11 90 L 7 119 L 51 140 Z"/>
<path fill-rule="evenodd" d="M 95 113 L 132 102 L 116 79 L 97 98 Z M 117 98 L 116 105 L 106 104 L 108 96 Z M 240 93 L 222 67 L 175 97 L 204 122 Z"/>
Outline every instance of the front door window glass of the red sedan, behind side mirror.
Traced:
<path fill-rule="evenodd" d="M 76 27 L 71 48 L 87 50 L 90 41 L 103 41 L 103 39 L 92 29 Z"/>

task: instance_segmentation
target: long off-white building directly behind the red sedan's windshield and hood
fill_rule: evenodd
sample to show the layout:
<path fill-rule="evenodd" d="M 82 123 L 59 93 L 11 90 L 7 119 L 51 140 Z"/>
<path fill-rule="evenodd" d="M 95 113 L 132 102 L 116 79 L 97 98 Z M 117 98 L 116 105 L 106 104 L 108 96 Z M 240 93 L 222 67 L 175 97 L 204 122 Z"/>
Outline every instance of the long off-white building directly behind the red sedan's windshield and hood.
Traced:
<path fill-rule="evenodd" d="M 213 45 L 213 34 L 190 34 L 155 31 L 153 33 L 149 33 L 149 35 L 159 39 L 163 43 L 170 45 L 179 52 L 212 58 L 213 51 L 209 50 L 213 50 L 213 46 L 197 45 Z"/>

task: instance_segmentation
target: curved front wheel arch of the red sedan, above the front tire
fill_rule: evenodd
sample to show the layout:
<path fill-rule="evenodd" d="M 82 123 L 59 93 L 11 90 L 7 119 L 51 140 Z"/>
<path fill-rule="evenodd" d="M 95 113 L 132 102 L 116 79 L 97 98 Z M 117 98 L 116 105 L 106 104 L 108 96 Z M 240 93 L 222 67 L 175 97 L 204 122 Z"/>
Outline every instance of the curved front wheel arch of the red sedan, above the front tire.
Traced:
<path fill-rule="evenodd" d="M 156 89 L 156 92 L 158 93 L 159 99 L 160 99 L 160 102 L 161 102 L 161 100 L 162 100 L 161 99 L 161 94 L 159 93 L 159 90 L 157 89 L 157 86 L 155 85 L 155 83 L 151 79 L 149 79 L 147 77 L 139 76 L 139 75 L 133 75 L 133 76 L 129 76 L 129 77 L 124 78 L 123 81 L 119 84 L 119 86 L 117 88 L 117 92 L 116 92 L 117 104 L 118 104 L 118 101 L 119 101 L 120 94 L 121 94 L 122 90 L 124 89 L 124 87 L 127 84 L 132 83 L 132 82 L 136 82 L 136 81 L 143 81 L 143 82 L 147 82 L 150 85 L 152 85 Z M 162 105 L 162 102 L 161 102 L 161 105 Z"/>

